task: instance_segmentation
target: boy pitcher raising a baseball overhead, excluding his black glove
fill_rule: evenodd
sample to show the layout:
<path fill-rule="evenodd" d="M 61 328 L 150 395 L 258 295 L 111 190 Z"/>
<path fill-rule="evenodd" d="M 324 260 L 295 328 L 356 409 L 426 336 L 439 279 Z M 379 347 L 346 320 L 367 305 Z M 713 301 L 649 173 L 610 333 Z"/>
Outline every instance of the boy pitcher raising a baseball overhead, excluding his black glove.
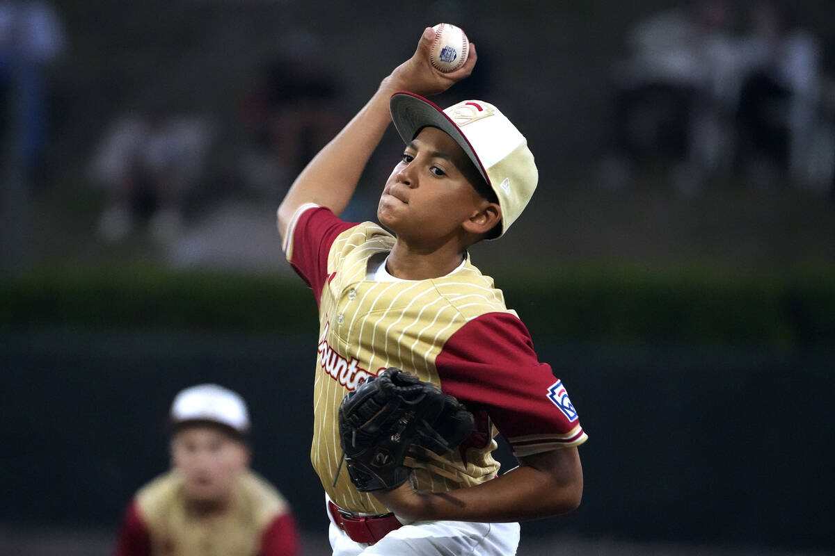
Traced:
<path fill-rule="evenodd" d="M 296 178 L 278 209 L 287 259 L 320 313 L 311 461 L 326 491 L 336 556 L 507 556 L 519 520 L 573 510 L 586 435 L 563 384 L 539 363 L 527 329 L 467 249 L 502 235 L 534 193 L 524 137 L 483 101 L 441 110 L 426 95 L 466 78 L 441 73 L 424 31 L 347 127 Z M 423 95 L 423 96 L 421 96 Z M 406 146 L 382 189 L 375 223 L 338 215 L 393 120 Z M 387 231 L 388 230 L 388 231 Z M 359 492 L 342 468 L 337 410 L 357 384 L 397 367 L 474 414 L 458 450 L 416 467 L 402 486 Z M 502 433 L 519 467 L 498 475 Z"/>

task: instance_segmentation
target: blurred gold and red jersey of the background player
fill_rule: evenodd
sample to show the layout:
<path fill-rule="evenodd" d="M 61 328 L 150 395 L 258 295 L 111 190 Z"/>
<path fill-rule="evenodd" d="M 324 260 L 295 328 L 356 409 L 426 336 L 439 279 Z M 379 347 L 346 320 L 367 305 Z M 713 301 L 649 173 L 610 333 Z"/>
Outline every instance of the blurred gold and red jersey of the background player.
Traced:
<path fill-rule="evenodd" d="M 176 470 L 139 489 L 125 513 L 116 556 L 298 556 L 299 534 L 281 494 L 241 475 L 228 512 L 208 522 L 190 512 Z"/>

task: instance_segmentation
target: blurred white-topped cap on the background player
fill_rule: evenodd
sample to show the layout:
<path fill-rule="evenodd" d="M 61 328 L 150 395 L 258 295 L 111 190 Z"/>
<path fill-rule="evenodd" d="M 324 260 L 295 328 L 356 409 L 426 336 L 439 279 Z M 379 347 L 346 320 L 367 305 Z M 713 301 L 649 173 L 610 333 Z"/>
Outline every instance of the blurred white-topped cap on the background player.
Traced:
<path fill-rule="evenodd" d="M 250 431 L 250 415 L 244 398 L 217 384 L 198 384 L 185 388 L 171 403 L 170 423 L 179 428 L 186 423 L 216 423 L 240 436 Z"/>

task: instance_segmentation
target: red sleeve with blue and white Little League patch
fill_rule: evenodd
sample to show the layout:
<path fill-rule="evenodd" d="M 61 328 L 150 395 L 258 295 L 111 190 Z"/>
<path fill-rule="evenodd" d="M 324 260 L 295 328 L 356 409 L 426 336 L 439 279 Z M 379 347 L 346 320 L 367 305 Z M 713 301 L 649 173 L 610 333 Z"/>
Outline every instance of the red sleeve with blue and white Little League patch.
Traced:
<path fill-rule="evenodd" d="M 517 455 L 585 441 L 562 381 L 539 363 L 528 329 L 514 315 L 474 318 L 449 338 L 435 363 L 443 391 L 473 413 L 486 411 Z"/>

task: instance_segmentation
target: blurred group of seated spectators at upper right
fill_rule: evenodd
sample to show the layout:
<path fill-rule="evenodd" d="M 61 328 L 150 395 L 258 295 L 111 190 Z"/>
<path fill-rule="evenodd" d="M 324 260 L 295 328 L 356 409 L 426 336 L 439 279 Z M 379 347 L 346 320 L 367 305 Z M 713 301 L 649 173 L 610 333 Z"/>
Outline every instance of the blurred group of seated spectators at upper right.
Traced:
<path fill-rule="evenodd" d="M 682 196 L 716 178 L 832 190 L 832 53 L 789 3 L 699 0 L 631 28 L 601 183 L 663 163 Z"/>

